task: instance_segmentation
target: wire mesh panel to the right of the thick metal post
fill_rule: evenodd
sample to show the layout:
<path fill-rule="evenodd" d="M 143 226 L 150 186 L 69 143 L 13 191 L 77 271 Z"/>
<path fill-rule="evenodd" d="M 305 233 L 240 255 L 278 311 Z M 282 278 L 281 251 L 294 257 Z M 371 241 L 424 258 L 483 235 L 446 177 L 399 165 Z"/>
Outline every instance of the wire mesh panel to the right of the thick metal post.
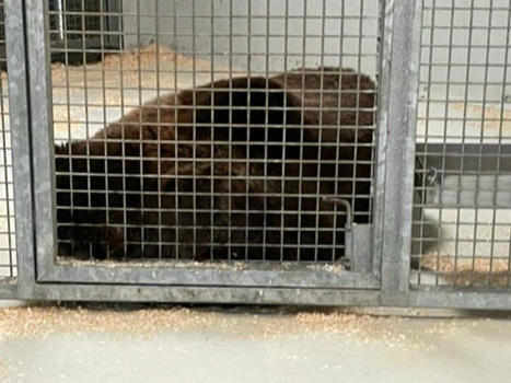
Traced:
<path fill-rule="evenodd" d="M 510 287 L 510 27 L 507 0 L 422 0 L 414 286 Z"/>

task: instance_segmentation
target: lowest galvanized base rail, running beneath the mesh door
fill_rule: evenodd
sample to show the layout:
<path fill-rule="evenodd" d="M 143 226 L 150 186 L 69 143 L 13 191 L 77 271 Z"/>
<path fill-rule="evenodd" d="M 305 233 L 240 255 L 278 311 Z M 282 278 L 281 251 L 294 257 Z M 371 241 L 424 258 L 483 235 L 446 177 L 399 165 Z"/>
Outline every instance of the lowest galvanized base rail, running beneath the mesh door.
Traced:
<path fill-rule="evenodd" d="M 54 301 L 202 302 L 511 310 L 510 293 L 453 289 L 413 290 L 408 293 L 385 294 L 378 290 L 37 283 L 30 297 L 20 295 L 18 298 Z"/>

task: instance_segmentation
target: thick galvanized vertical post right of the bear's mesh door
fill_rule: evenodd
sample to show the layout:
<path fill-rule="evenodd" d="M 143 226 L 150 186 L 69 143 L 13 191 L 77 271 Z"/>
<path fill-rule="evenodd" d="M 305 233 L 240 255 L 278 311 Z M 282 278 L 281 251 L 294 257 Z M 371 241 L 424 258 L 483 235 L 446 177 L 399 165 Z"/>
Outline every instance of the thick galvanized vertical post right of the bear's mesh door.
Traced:
<path fill-rule="evenodd" d="M 385 151 L 385 173 L 379 179 L 384 190 L 380 209 L 383 297 L 406 292 L 409 286 L 418 83 L 418 66 L 413 50 L 418 42 L 415 28 L 418 10 L 416 0 L 390 0 L 385 9 L 385 15 L 392 13 L 392 39 L 384 43 L 385 48 L 390 48 L 386 69 L 391 81 L 387 84 L 388 105 L 382 111 L 384 124 L 381 130 L 385 130 L 385 142 L 380 141 Z"/>

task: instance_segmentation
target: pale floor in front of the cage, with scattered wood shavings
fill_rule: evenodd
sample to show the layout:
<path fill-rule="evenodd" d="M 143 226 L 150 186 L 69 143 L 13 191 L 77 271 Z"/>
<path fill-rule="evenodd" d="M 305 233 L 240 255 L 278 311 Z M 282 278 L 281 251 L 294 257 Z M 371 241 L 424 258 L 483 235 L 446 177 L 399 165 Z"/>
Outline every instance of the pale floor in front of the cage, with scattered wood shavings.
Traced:
<path fill-rule="evenodd" d="M 511 382 L 510 317 L 378 314 L 384 316 L 201 307 L 191 310 L 198 322 L 188 328 L 7 337 L 0 341 L 0 376 L 2 382 Z"/>

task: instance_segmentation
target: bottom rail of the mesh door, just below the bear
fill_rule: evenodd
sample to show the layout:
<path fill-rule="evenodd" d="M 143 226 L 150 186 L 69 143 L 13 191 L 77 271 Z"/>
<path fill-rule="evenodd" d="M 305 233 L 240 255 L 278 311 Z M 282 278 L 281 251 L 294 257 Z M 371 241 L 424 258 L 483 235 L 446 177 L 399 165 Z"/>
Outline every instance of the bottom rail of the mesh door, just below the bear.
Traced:
<path fill-rule="evenodd" d="M 232 287 L 292 287 L 292 288 L 378 288 L 379 280 L 370 274 L 346 271 L 335 265 L 247 265 L 236 270 L 214 267 L 172 267 L 172 263 L 159 262 L 129 265 L 116 263 L 108 266 L 49 265 L 38 272 L 42 282 L 133 283 L 158 286 L 232 286 Z M 340 267 L 340 265 L 339 265 Z"/>

